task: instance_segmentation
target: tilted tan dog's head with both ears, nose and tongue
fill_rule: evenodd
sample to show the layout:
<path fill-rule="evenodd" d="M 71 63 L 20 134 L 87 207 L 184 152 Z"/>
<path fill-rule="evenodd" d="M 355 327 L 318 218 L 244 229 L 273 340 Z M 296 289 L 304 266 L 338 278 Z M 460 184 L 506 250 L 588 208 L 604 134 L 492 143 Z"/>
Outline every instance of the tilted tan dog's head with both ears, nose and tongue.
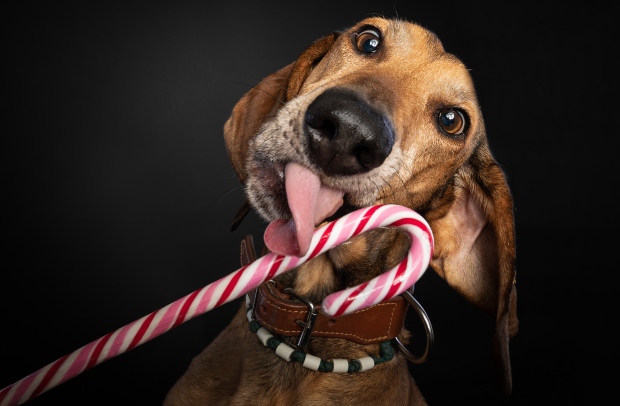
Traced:
<path fill-rule="evenodd" d="M 431 267 L 496 319 L 494 354 L 510 393 L 512 197 L 468 70 L 433 33 L 369 18 L 327 35 L 245 94 L 224 136 L 250 206 L 270 222 L 274 252 L 305 254 L 317 224 L 359 207 L 392 203 L 423 215 L 435 237 Z M 368 234 L 315 258 L 325 270 L 305 289 L 343 288 L 333 276 L 343 269 L 345 284 L 359 283 L 407 249 L 394 230 Z"/>

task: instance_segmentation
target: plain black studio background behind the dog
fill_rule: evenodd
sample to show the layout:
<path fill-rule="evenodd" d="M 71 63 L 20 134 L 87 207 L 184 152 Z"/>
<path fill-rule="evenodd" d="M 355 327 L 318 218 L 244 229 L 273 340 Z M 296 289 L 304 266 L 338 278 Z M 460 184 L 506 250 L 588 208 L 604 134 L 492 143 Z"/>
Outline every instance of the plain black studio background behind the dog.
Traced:
<path fill-rule="evenodd" d="M 381 14 L 430 28 L 471 69 L 514 194 L 521 324 L 506 403 L 596 403 L 611 393 L 617 23 L 594 2 L 495 3 L 5 6 L 0 387 L 238 269 L 244 235 L 260 249 L 255 216 L 229 231 L 242 190 L 225 120 L 314 39 Z M 436 334 L 429 361 L 412 367 L 429 403 L 504 403 L 493 321 L 432 271 L 416 296 Z M 160 404 L 238 303 L 29 404 Z"/>

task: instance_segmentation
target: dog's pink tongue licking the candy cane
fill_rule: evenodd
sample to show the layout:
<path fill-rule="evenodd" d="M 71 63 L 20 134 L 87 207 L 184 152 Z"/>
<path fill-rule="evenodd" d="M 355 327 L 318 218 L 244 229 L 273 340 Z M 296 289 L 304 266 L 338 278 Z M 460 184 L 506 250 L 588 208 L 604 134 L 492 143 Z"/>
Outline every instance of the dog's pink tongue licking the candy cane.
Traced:
<path fill-rule="evenodd" d="M 280 255 L 306 255 L 314 227 L 342 206 L 343 192 L 321 185 L 309 169 L 288 163 L 284 168 L 286 198 L 293 218 L 272 221 L 265 230 L 265 245 Z"/>

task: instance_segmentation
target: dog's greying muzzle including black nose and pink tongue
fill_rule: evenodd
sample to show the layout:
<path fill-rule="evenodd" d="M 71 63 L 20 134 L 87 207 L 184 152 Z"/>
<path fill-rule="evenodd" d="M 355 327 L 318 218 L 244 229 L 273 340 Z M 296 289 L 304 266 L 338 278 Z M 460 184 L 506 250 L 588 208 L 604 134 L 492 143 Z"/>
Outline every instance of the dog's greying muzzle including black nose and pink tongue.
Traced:
<path fill-rule="evenodd" d="M 303 257 L 317 225 L 343 216 L 351 205 L 374 204 L 398 170 L 389 163 L 397 160 L 395 134 L 383 110 L 352 89 L 289 102 L 263 125 L 248 151 L 247 195 L 271 221 L 266 248 Z"/>

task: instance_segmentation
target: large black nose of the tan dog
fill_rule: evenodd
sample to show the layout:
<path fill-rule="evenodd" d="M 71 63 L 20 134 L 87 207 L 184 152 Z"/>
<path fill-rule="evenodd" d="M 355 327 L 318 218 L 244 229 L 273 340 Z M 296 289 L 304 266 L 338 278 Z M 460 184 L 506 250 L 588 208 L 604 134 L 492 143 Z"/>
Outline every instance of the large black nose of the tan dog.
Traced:
<path fill-rule="evenodd" d="M 314 162 L 328 175 L 354 175 L 380 166 L 394 131 L 384 115 L 350 89 L 329 89 L 306 110 Z"/>

